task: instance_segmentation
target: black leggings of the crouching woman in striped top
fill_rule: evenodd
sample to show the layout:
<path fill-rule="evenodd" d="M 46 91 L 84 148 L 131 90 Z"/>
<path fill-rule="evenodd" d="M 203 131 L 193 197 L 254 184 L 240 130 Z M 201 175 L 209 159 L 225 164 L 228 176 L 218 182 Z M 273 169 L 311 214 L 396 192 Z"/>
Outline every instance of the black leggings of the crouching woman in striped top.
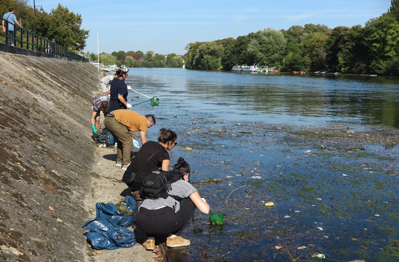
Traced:
<path fill-rule="evenodd" d="M 162 207 L 160 209 L 140 208 L 136 216 L 136 225 L 148 236 L 156 234 L 174 234 L 180 236 L 192 217 L 196 206 L 190 198 L 180 201 L 180 209 Z"/>

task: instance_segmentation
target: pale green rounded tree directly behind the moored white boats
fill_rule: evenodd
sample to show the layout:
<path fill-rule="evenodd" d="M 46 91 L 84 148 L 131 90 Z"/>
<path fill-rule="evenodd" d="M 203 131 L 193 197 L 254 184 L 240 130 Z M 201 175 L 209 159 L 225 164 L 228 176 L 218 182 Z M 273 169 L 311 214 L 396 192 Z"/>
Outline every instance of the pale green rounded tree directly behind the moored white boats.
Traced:
<path fill-rule="evenodd" d="M 248 53 L 255 57 L 255 63 L 280 65 L 286 39 L 282 32 L 273 28 L 259 30 L 248 44 Z"/>

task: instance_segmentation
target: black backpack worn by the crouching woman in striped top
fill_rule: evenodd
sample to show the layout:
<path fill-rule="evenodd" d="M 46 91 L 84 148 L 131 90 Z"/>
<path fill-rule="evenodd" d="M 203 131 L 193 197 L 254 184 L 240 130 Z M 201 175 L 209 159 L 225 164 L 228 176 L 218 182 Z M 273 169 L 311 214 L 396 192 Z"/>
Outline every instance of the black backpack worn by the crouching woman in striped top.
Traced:
<path fill-rule="evenodd" d="M 169 196 L 167 189 L 171 188 L 171 184 L 179 179 L 183 179 L 184 174 L 180 171 L 152 171 L 143 180 L 142 188 L 140 189 L 140 197 L 142 199 L 157 199 L 166 198 Z M 176 200 L 180 201 L 181 198 Z"/>

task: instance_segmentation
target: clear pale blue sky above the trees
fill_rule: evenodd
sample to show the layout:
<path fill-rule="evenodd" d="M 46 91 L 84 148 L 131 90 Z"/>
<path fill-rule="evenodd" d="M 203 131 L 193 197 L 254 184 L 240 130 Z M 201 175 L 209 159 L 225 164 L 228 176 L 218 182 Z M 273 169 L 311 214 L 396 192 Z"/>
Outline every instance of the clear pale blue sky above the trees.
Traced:
<path fill-rule="evenodd" d="M 33 0 L 29 0 L 33 6 Z M 53 0 L 35 0 L 46 12 Z M 364 26 L 391 5 L 390 0 L 67 0 L 61 2 L 82 15 L 90 30 L 85 51 L 137 51 L 186 53 L 190 42 L 236 38 L 264 28 L 288 29 L 292 25 L 325 24 Z M 17 14 L 18 18 L 18 14 Z"/>

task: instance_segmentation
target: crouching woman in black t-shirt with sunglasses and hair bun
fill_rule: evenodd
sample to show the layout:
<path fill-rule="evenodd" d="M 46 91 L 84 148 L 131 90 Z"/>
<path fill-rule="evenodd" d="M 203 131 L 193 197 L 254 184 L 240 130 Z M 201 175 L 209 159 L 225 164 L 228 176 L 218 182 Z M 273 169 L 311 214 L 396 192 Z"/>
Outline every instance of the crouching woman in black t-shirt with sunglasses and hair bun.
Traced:
<path fill-rule="evenodd" d="M 123 174 L 124 177 L 130 177 L 133 173 L 136 173 L 134 181 L 126 183 L 132 189 L 132 195 L 136 200 L 141 200 L 138 191 L 148 173 L 159 168 L 164 171 L 169 170 L 170 157 L 167 150 L 176 146 L 177 135 L 166 128 L 161 128 L 159 132 L 158 142 L 147 141 L 143 144 Z"/>

